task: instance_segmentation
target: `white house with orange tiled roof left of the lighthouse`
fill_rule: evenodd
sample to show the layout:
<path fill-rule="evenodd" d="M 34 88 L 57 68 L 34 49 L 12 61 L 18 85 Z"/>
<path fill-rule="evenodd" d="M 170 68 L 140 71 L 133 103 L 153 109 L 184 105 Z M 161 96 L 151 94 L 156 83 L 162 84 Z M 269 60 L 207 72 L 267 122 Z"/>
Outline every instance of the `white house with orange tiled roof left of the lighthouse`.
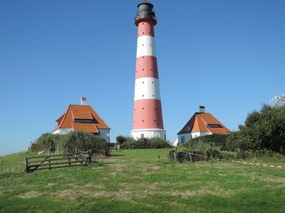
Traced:
<path fill-rule="evenodd" d="M 110 141 L 110 127 L 90 106 L 86 97 L 81 97 L 81 105 L 71 104 L 57 120 L 53 134 L 67 134 L 71 131 L 86 131 Z"/>

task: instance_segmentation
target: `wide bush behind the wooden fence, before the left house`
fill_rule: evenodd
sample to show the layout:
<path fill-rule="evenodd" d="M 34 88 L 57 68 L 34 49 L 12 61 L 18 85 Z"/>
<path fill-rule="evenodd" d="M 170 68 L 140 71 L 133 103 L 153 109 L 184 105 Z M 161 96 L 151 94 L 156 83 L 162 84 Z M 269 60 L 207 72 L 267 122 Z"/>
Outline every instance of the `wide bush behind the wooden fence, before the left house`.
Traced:
<path fill-rule="evenodd" d="M 56 151 L 60 147 L 62 151 L 74 152 L 76 148 L 93 154 L 109 155 L 110 143 L 104 138 L 82 131 L 72 131 L 66 135 L 43 133 L 31 144 L 31 151 Z"/>

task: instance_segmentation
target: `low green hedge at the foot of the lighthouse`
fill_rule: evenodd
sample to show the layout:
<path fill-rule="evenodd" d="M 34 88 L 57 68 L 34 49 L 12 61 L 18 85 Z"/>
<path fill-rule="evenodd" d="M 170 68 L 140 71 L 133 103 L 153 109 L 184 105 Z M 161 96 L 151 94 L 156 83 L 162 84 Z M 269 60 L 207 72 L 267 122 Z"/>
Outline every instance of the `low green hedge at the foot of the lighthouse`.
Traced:
<path fill-rule="evenodd" d="M 120 140 L 124 141 L 121 148 L 129 149 L 129 148 L 171 148 L 172 146 L 165 140 L 161 138 L 140 138 L 138 141 L 131 137 L 125 137 L 124 139 L 121 138 Z M 118 137 L 117 137 L 118 138 Z"/>

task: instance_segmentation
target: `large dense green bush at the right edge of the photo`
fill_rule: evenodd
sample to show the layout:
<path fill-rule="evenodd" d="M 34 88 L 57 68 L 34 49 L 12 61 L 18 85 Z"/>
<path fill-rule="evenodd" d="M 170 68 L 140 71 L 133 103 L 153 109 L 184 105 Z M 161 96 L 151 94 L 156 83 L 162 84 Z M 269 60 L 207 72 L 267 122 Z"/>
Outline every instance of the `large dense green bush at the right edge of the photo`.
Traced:
<path fill-rule="evenodd" d="M 271 150 L 284 154 L 285 106 L 263 105 L 261 111 L 252 111 L 239 131 L 227 138 L 228 150 Z"/>

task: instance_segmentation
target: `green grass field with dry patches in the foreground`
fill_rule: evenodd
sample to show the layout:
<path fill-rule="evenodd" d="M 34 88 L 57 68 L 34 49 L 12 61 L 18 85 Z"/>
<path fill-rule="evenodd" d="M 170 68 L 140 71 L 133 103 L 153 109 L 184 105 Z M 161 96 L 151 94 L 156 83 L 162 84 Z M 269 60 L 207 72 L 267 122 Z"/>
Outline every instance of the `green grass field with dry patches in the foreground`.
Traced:
<path fill-rule="evenodd" d="M 0 212 L 284 212 L 284 168 L 174 163 L 169 151 L 113 151 L 86 167 L 31 174 L 24 173 L 24 158 L 36 153 L 2 156 Z"/>

